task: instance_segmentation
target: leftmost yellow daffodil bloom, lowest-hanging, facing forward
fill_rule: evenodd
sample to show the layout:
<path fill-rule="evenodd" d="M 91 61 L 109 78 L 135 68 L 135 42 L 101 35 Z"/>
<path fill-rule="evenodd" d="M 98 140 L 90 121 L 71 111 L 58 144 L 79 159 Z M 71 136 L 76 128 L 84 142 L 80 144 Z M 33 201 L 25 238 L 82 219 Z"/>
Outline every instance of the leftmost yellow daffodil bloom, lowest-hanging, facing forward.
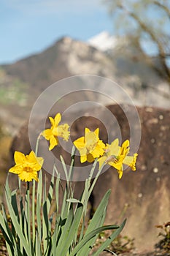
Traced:
<path fill-rule="evenodd" d="M 42 168 L 44 162 L 42 157 L 36 157 L 34 151 L 26 156 L 15 151 L 14 159 L 15 166 L 9 169 L 10 173 L 18 174 L 21 181 L 32 181 L 32 179 L 39 181 L 37 171 Z"/>

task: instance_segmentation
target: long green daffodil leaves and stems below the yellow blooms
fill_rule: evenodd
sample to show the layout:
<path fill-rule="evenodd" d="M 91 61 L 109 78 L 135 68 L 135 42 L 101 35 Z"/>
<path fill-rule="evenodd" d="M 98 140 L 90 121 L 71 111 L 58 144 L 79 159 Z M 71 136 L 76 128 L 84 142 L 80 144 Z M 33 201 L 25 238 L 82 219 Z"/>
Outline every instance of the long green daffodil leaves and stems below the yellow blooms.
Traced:
<path fill-rule="evenodd" d="M 66 165 L 61 157 L 63 170 L 67 180 L 63 189 L 61 210 L 59 208 L 60 175 L 56 167 L 53 170 L 50 187 L 47 189 L 43 181 L 42 171 L 39 172 L 39 182 L 33 181 L 32 188 L 26 190 L 26 195 L 21 193 L 21 184 L 18 180 L 19 189 L 11 191 L 8 178 L 5 185 L 7 210 L 1 205 L 0 227 L 6 240 L 9 256 L 74 256 L 74 255 L 99 255 L 107 249 L 110 243 L 120 234 L 125 225 L 104 226 L 110 190 L 104 195 L 96 209 L 93 218 L 86 228 L 87 206 L 90 193 L 97 181 L 100 171 L 92 181 L 96 162 L 93 164 L 89 178 L 85 181 L 85 189 L 79 199 L 74 198 L 74 188 L 69 181 L 74 169 L 74 148 L 72 151 L 72 164 L 67 174 Z M 54 175 L 57 178 L 54 178 Z M 52 199 L 55 200 L 56 209 L 53 211 Z M 35 204 L 36 202 L 36 204 Z M 11 219 L 9 223 L 8 213 Z M 105 239 L 101 246 L 93 251 L 98 234 L 105 230 L 114 230 Z"/>

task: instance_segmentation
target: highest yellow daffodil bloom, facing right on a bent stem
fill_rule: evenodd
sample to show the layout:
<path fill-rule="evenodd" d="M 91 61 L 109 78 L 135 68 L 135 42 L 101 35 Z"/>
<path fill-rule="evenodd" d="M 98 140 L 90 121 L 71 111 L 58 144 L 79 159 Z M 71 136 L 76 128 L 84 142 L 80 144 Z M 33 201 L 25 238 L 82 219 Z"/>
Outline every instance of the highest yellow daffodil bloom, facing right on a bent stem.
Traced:
<path fill-rule="evenodd" d="M 55 118 L 49 117 L 51 128 L 45 129 L 42 132 L 42 136 L 46 140 L 50 140 L 49 150 L 52 150 L 55 146 L 58 145 L 58 137 L 63 138 L 63 140 L 69 140 L 69 124 L 58 125 L 61 121 L 61 114 L 56 114 Z"/>

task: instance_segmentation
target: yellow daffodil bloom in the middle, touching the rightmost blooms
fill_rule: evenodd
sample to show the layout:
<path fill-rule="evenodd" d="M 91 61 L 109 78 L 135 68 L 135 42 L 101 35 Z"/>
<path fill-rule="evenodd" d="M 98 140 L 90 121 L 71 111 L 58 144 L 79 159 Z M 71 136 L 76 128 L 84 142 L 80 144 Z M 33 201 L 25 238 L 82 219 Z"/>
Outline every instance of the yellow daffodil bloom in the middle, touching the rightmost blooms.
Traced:
<path fill-rule="evenodd" d="M 80 151 L 80 162 L 93 162 L 104 154 L 105 145 L 99 140 L 98 133 L 98 128 L 94 132 L 85 128 L 85 136 L 74 141 L 74 146 Z"/>

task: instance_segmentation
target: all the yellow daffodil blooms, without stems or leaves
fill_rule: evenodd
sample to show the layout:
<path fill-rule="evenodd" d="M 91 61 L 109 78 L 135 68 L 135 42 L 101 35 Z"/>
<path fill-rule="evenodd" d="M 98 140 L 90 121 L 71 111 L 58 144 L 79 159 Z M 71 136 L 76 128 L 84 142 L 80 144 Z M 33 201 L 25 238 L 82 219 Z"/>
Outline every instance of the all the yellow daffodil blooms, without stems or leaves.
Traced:
<path fill-rule="evenodd" d="M 50 117 L 51 127 L 45 129 L 41 135 L 49 140 L 49 150 L 52 150 L 58 145 L 58 138 L 63 140 L 69 140 L 69 124 L 61 124 L 61 114 L 58 113 L 55 118 Z M 122 146 L 119 146 L 119 140 L 115 139 L 111 144 L 104 144 L 99 139 L 99 129 L 94 132 L 85 128 L 85 136 L 78 138 L 74 141 L 74 146 L 80 152 L 80 162 L 93 162 L 98 159 L 99 169 L 104 165 L 110 165 L 114 167 L 119 178 L 123 176 L 123 164 L 131 167 L 131 170 L 136 170 L 136 157 L 128 156 L 129 153 L 129 140 L 125 140 Z M 43 161 L 42 157 L 36 157 L 34 151 L 31 151 L 29 155 L 24 155 L 18 151 L 15 151 L 15 166 L 9 169 L 9 172 L 18 174 L 21 181 L 32 181 L 35 179 L 39 181 L 37 172 L 41 170 Z"/>

